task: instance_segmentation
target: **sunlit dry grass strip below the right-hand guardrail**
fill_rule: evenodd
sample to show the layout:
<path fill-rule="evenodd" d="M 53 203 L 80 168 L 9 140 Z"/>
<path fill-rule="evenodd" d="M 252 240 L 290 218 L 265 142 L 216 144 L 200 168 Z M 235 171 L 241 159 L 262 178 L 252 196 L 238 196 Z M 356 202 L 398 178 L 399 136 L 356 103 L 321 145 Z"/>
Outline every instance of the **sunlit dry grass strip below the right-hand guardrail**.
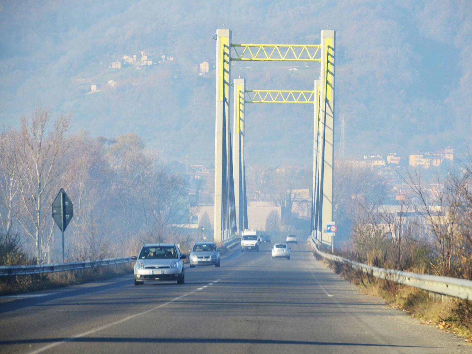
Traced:
<path fill-rule="evenodd" d="M 323 262 L 344 279 L 357 285 L 363 293 L 384 299 L 388 306 L 405 310 L 424 324 L 435 325 L 467 341 L 471 340 L 472 301 L 431 294 L 421 289 L 378 279 L 344 263 L 329 260 Z"/>

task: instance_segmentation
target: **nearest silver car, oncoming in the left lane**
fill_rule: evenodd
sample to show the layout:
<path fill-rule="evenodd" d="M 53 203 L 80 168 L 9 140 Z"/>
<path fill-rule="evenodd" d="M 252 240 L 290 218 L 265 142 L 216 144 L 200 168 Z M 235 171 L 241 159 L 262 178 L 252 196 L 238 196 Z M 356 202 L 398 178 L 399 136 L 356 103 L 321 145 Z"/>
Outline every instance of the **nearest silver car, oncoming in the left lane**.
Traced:
<path fill-rule="evenodd" d="M 175 243 L 146 244 L 141 248 L 133 268 L 135 285 L 146 281 L 177 281 L 185 283 L 186 256 L 180 253 Z"/>

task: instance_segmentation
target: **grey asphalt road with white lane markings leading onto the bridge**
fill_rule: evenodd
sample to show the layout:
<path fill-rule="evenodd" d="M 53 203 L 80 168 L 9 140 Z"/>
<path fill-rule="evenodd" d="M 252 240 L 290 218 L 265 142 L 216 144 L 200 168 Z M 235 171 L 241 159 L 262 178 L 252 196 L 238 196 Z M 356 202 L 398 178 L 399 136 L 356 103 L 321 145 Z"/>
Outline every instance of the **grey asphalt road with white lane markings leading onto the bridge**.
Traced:
<path fill-rule="evenodd" d="M 229 252 L 183 285 L 129 275 L 0 298 L 0 353 L 472 353 L 291 247 Z"/>

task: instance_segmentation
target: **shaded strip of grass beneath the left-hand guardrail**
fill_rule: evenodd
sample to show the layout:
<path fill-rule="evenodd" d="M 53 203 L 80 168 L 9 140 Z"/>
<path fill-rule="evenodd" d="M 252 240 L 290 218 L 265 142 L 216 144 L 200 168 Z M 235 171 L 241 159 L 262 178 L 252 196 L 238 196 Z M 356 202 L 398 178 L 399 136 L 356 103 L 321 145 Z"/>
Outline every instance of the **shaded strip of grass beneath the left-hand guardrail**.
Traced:
<path fill-rule="evenodd" d="M 133 263 L 130 262 L 70 272 L 2 277 L 0 278 L 0 295 L 14 295 L 27 291 L 65 287 L 108 279 L 123 274 L 131 274 L 132 272 Z"/>

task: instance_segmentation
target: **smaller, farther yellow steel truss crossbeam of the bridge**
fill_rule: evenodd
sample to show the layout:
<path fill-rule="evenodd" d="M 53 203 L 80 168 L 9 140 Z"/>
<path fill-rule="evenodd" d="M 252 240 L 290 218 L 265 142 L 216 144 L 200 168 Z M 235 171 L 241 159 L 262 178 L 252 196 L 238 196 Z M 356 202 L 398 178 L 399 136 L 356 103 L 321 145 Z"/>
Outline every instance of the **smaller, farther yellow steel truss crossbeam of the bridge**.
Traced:
<path fill-rule="evenodd" d="M 315 103 L 313 90 L 246 90 L 245 103 Z"/>

